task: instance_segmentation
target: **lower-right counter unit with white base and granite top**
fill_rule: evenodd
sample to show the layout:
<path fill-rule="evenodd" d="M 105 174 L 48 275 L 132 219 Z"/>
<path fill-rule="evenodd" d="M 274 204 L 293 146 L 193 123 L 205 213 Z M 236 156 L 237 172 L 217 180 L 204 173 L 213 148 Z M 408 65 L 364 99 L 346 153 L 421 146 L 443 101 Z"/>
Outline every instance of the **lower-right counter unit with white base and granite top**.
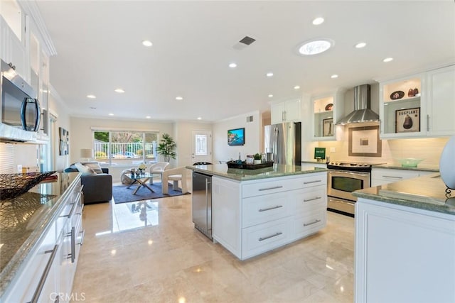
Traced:
<path fill-rule="evenodd" d="M 455 302 L 455 191 L 440 175 L 353 194 L 355 302 Z"/>

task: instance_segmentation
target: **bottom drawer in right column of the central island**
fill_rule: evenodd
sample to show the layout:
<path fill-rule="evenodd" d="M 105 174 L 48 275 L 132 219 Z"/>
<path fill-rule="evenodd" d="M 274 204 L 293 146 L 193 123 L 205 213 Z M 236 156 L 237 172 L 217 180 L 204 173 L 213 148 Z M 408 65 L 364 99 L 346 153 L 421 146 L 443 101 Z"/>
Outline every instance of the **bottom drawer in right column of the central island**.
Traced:
<path fill-rule="evenodd" d="M 296 217 L 294 219 L 294 236 L 295 238 L 303 238 L 310 233 L 315 233 L 319 229 L 326 226 L 326 207 L 316 207 L 312 209 L 306 216 Z"/>

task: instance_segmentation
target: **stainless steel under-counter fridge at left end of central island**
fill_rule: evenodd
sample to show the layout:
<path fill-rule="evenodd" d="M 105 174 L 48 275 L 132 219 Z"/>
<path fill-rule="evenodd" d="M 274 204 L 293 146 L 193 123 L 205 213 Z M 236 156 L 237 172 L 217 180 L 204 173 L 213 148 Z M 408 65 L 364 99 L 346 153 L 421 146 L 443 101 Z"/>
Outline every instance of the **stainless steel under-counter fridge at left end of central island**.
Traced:
<path fill-rule="evenodd" d="M 212 237 L 212 177 L 193 172 L 193 223 L 208 238 Z"/>

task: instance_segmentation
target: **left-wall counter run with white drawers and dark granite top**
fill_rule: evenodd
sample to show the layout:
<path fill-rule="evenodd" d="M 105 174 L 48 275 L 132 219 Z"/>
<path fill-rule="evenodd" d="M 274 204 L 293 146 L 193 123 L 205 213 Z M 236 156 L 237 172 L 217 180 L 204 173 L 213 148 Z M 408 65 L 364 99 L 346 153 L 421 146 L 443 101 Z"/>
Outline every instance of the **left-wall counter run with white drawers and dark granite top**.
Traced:
<path fill-rule="evenodd" d="M 81 194 L 80 173 L 70 172 L 1 199 L 0 302 L 70 294 L 83 235 Z"/>

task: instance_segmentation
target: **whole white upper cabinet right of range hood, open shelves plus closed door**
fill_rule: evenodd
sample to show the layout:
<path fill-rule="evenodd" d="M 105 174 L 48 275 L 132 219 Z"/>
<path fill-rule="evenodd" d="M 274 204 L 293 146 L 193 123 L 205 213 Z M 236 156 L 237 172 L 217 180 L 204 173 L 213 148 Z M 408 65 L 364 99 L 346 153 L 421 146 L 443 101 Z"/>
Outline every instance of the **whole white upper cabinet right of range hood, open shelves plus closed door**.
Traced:
<path fill-rule="evenodd" d="M 418 93 L 410 93 L 411 89 Z M 381 82 L 380 138 L 453 135 L 454 98 L 454 65 Z"/>

